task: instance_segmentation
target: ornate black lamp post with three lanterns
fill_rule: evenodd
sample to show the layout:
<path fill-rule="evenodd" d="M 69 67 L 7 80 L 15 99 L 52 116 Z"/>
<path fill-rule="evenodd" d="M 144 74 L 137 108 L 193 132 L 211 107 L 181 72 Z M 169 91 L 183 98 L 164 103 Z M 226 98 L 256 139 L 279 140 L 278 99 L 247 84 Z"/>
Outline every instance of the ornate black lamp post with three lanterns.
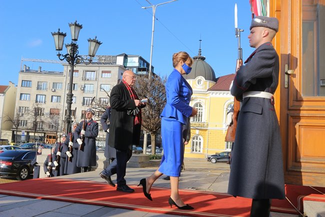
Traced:
<path fill-rule="evenodd" d="M 88 39 L 88 56 L 89 59 L 82 58 L 79 56 L 78 51 L 78 45 L 76 42 L 78 41 L 79 31 L 82 29 L 82 25 L 77 24 L 76 21 L 74 23 L 69 24 L 70 31 L 71 31 L 71 43 L 65 44 L 65 48 L 67 53 L 65 55 L 60 54 L 60 51 L 62 51 L 64 37 L 66 36 L 65 33 L 60 32 L 60 29 L 58 29 L 57 32 L 51 33 L 54 38 L 55 43 L 55 50 L 58 51 L 57 57 L 60 60 L 66 60 L 70 64 L 70 79 L 69 79 L 69 90 L 66 94 L 66 114 L 64 116 L 64 123 L 65 123 L 65 130 L 68 134 L 71 132 L 71 105 L 72 105 L 72 86 L 73 86 L 73 69 L 76 64 L 84 63 L 84 64 L 90 64 L 92 61 L 92 58 L 95 56 L 99 45 L 101 45 L 101 42 L 99 42 L 96 37 L 94 39 Z"/>

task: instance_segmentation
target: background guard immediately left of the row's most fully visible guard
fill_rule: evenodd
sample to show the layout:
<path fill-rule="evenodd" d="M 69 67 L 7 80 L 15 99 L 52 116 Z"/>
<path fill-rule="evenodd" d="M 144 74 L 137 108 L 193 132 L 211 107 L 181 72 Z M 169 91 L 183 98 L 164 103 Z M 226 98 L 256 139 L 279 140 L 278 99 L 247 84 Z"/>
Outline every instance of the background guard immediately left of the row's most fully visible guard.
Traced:
<path fill-rule="evenodd" d="M 74 174 L 79 173 L 81 171 L 81 168 L 76 166 L 79 144 L 76 142 L 75 137 L 73 135 L 73 132 L 78 125 L 78 122 L 72 123 L 72 131 L 68 134 L 67 139 L 65 141 L 68 145 L 68 152 L 70 153 L 70 155 L 67 155 L 67 158 L 65 159 L 65 174 Z"/>

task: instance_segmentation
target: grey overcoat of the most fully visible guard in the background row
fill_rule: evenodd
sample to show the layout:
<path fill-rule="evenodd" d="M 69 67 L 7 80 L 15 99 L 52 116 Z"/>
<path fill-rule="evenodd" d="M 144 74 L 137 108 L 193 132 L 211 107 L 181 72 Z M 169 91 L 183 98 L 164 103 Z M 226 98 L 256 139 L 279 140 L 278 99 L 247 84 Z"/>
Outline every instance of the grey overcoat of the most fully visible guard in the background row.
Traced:
<path fill-rule="evenodd" d="M 80 138 L 80 132 L 83 126 L 83 121 L 80 122 L 73 132 L 75 139 Z M 78 150 L 76 166 L 88 167 L 96 165 L 96 137 L 98 135 L 98 123 L 90 119 L 86 123 L 84 133 L 83 151 Z"/>

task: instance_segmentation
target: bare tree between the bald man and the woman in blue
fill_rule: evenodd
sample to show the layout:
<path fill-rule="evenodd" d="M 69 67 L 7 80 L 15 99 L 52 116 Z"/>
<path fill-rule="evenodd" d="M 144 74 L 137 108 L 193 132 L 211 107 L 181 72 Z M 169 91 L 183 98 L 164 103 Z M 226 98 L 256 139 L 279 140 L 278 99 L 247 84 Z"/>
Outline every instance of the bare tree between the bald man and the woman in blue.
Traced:
<path fill-rule="evenodd" d="M 149 84 L 148 76 L 141 75 L 137 77 L 133 87 L 139 99 L 148 98 L 148 103 L 141 112 L 142 128 L 150 133 L 152 154 L 155 153 L 155 136 L 160 132 L 160 114 L 166 104 L 165 83 L 165 76 L 154 76 Z"/>

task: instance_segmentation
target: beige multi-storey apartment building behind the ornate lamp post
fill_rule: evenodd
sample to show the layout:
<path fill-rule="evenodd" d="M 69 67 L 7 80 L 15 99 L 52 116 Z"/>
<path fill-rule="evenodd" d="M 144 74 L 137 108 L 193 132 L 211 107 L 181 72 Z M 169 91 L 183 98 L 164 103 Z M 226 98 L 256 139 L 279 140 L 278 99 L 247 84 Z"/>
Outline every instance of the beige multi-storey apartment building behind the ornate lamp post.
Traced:
<path fill-rule="evenodd" d="M 108 105 L 110 90 L 120 82 L 126 69 L 145 74 L 148 66 L 141 56 L 126 54 L 97 56 L 88 65 L 76 65 L 72 74 L 72 120 L 80 122 L 84 118 L 93 97 L 97 103 Z M 40 67 L 30 70 L 24 65 L 19 72 L 16 95 L 15 120 L 19 127 L 12 129 L 12 138 L 17 137 L 17 142 L 57 141 L 58 135 L 66 131 L 63 120 L 69 79 L 68 64 L 63 64 L 63 72 L 44 71 Z M 94 119 L 99 122 L 100 116 L 101 112 L 95 111 Z M 105 134 L 100 132 L 97 140 L 104 141 Z"/>

